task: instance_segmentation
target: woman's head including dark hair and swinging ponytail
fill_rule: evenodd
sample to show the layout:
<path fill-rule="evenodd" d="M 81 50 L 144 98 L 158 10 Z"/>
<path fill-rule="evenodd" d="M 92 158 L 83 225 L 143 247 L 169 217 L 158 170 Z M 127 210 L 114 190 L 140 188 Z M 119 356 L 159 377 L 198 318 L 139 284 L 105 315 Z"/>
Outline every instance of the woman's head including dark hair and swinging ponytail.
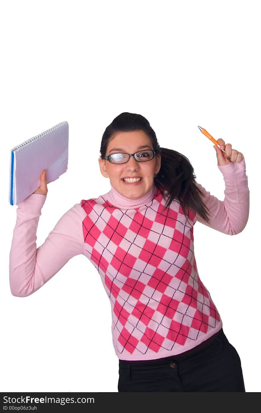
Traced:
<path fill-rule="evenodd" d="M 140 148 L 141 146 L 143 148 Z M 123 164 L 113 164 L 105 159 L 113 153 L 134 154 L 141 150 L 153 150 L 153 158 L 139 162 L 131 156 Z M 139 199 L 150 190 L 154 182 L 164 199 L 168 199 L 165 209 L 176 199 L 181 204 L 185 216 L 185 209 L 191 208 L 209 222 L 207 207 L 200 197 L 203 194 L 195 184 L 190 161 L 175 150 L 160 147 L 155 132 L 144 116 L 123 112 L 113 119 L 102 135 L 100 154 L 101 174 L 109 177 L 113 188 L 124 197 Z M 138 158 L 143 155 L 147 157 L 148 153 L 139 154 Z M 128 185 L 122 178 L 129 176 L 140 176 L 142 180 L 138 184 Z M 164 189 L 167 190 L 167 194 L 164 193 Z"/>

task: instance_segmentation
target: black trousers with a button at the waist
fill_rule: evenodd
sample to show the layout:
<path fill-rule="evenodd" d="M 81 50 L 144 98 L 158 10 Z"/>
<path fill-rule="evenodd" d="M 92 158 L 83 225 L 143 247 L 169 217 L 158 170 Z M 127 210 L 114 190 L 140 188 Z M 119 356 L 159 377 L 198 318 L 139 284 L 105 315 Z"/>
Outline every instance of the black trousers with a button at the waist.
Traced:
<path fill-rule="evenodd" d="M 197 347 L 185 356 L 119 359 L 118 391 L 245 392 L 240 357 L 223 328 L 207 346 Z"/>

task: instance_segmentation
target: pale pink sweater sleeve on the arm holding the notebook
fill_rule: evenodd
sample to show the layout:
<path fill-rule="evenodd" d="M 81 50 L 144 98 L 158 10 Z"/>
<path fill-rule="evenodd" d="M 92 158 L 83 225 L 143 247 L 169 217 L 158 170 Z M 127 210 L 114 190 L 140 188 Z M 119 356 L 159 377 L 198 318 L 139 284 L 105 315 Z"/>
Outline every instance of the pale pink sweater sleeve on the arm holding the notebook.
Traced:
<path fill-rule="evenodd" d="M 75 204 L 36 248 L 36 230 L 46 196 L 31 194 L 18 204 L 9 254 L 9 283 L 16 297 L 27 297 L 53 277 L 75 255 L 82 254 L 82 219 Z M 86 214 L 85 214 L 86 216 Z"/>

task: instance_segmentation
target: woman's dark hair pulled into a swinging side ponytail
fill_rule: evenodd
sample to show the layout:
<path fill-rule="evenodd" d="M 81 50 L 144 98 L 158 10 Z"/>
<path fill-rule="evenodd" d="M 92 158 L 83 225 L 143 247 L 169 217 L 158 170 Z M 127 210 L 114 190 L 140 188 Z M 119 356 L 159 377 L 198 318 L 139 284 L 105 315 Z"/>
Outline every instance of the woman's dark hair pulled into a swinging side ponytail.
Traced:
<path fill-rule="evenodd" d="M 123 112 L 113 119 L 102 135 L 101 159 L 106 156 L 108 142 L 115 133 L 140 130 L 144 131 L 150 138 L 155 154 L 161 156 L 160 171 L 154 177 L 154 183 L 165 199 L 163 211 L 176 199 L 180 203 L 186 218 L 188 218 L 188 215 L 185 208 L 192 209 L 209 223 L 210 211 L 201 199 L 203 194 L 195 184 L 196 176 L 190 161 L 175 150 L 160 147 L 155 132 L 144 116 Z M 167 194 L 162 192 L 160 186 L 167 190 Z"/>

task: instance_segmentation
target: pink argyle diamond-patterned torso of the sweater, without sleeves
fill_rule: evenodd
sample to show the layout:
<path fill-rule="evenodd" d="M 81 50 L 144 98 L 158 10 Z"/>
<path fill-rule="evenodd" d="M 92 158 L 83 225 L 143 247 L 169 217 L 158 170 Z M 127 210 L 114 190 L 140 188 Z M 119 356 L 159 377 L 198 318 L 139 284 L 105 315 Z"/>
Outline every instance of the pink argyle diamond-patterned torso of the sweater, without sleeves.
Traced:
<path fill-rule="evenodd" d="M 167 193 L 164 188 L 162 191 Z M 108 195 L 81 201 L 85 255 L 98 270 L 112 310 L 115 353 L 123 360 L 180 354 L 222 327 L 194 256 L 194 211 L 165 200 L 132 209 Z"/>

